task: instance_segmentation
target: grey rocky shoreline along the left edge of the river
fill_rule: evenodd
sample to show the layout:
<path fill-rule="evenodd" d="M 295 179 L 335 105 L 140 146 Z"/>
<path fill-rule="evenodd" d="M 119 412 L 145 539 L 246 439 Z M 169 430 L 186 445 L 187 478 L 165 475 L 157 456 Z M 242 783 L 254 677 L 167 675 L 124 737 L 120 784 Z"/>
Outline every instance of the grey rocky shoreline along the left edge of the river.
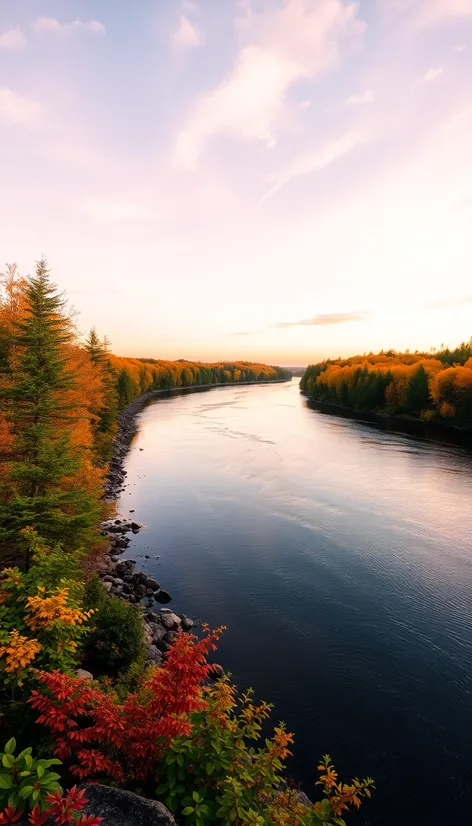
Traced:
<path fill-rule="evenodd" d="M 120 413 L 113 456 L 109 462 L 109 472 L 104 486 L 106 502 L 115 502 L 125 490 L 127 471 L 124 464 L 131 439 L 137 431 L 137 417 L 146 401 L 153 395 L 155 394 L 146 393 L 139 396 Z M 170 608 L 158 608 L 157 605 L 165 605 L 172 600 L 169 592 L 161 588 L 155 577 L 136 570 L 137 563 L 134 559 L 120 560 L 120 555 L 131 542 L 129 534 L 136 534 L 142 528 L 140 522 L 118 516 L 102 522 L 101 533 L 108 538 L 109 544 L 103 567 L 98 573 L 110 595 L 141 608 L 144 617 L 144 642 L 148 652 L 147 663 L 161 665 L 179 629 L 191 631 L 198 623 L 185 614 L 175 614 Z M 222 675 L 222 667 L 212 665 L 212 678 L 217 679 Z"/>

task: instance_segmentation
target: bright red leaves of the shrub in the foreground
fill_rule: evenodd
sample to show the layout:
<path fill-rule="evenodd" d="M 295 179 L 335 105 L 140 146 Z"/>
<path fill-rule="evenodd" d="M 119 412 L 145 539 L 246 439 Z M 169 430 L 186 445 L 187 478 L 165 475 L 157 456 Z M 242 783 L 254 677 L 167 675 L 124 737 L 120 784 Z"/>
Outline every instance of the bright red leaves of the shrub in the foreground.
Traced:
<path fill-rule="evenodd" d="M 125 771 L 128 781 L 153 776 L 164 749 L 190 733 L 190 714 L 205 705 L 206 657 L 219 634 L 199 640 L 179 633 L 162 668 L 124 703 L 84 680 L 41 672 L 42 688 L 29 702 L 55 736 L 56 754 L 74 759 L 71 770 L 81 780 L 123 782 Z"/>

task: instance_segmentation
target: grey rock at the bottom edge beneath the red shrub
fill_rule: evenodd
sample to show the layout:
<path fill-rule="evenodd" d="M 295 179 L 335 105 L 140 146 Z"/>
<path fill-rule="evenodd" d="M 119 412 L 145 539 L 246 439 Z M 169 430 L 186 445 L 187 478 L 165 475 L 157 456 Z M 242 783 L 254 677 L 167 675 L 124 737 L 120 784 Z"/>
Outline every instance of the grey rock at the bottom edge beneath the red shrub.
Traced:
<path fill-rule="evenodd" d="M 101 826 L 176 826 L 173 815 L 157 800 L 99 784 L 82 788 L 87 798 L 84 814 L 101 817 Z"/>

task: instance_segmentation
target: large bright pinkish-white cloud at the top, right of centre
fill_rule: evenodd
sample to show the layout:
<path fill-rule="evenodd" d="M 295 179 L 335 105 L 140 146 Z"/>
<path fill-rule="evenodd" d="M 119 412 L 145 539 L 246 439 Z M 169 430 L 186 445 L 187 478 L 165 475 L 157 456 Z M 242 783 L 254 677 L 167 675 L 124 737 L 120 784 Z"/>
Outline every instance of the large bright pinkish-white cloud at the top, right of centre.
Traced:
<path fill-rule="evenodd" d="M 244 44 L 233 69 L 198 102 L 177 136 L 184 165 L 195 164 L 217 135 L 274 146 L 289 89 L 336 65 L 344 43 L 350 47 L 365 28 L 355 2 L 285 0 L 265 14 L 254 14 L 247 3 L 240 8 Z"/>

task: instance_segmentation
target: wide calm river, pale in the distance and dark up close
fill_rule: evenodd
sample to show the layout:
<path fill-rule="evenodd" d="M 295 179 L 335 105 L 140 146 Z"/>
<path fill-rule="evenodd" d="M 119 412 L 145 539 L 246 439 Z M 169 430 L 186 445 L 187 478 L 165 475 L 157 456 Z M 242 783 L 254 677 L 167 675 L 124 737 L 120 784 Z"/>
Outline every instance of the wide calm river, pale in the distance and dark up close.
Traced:
<path fill-rule="evenodd" d="M 295 732 L 305 789 L 328 752 L 376 780 L 355 823 L 470 822 L 471 454 L 323 415 L 294 381 L 153 403 L 127 470 L 129 555 L 228 626 L 218 660 Z"/>

